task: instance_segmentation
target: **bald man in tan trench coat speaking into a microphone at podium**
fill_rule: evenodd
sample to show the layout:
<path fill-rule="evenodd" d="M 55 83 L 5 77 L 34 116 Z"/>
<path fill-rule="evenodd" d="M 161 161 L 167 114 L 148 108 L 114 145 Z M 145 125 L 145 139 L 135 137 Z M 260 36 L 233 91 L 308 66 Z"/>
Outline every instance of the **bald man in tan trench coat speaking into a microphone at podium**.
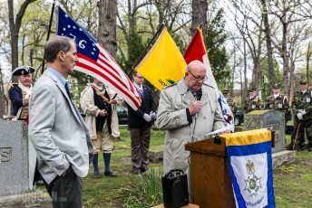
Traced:
<path fill-rule="evenodd" d="M 204 84 L 205 80 L 203 63 L 191 61 L 184 78 L 161 91 L 156 127 L 167 130 L 163 155 L 165 174 L 171 169 L 181 169 L 190 175 L 190 152 L 184 145 L 226 127 L 216 90 Z"/>

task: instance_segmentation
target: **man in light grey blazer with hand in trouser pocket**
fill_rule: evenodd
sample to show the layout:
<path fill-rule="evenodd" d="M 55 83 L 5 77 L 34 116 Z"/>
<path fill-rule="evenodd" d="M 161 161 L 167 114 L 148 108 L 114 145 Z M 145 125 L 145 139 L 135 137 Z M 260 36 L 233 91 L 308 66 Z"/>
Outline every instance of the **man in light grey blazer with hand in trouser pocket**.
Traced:
<path fill-rule="evenodd" d="M 29 105 L 29 137 L 53 207 L 82 207 L 82 177 L 88 174 L 93 145 L 65 80 L 78 61 L 73 39 L 50 39 L 44 58 L 47 69 Z"/>

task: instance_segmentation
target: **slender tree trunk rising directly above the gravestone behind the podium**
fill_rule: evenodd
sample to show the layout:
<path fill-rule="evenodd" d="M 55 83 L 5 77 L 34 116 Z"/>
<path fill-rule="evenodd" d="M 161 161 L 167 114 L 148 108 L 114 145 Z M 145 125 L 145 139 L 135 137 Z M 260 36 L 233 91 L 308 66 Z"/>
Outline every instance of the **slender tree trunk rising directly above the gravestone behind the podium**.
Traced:
<path fill-rule="evenodd" d="M 274 68 L 273 68 L 273 49 L 271 41 L 271 32 L 268 24 L 268 8 L 266 0 L 261 0 L 262 5 L 262 18 L 265 26 L 265 33 L 267 39 L 267 50 L 268 50 L 268 80 L 269 80 L 269 89 L 273 89 L 274 82 Z"/>

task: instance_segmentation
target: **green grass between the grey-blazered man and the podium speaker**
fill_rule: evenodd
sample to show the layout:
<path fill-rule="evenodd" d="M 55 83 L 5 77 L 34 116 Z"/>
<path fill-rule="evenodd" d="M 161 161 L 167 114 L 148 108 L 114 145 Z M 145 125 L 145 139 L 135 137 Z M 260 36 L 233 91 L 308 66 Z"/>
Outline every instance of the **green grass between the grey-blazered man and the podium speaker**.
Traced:
<path fill-rule="evenodd" d="M 151 131 L 151 147 L 164 143 L 164 132 Z M 103 172 L 102 155 L 99 167 Z M 121 129 L 121 138 L 114 143 L 111 169 L 118 177 L 93 178 L 93 165 L 83 179 L 83 207 L 151 207 L 162 202 L 161 174 L 162 163 L 152 163 L 144 175 L 132 174 L 131 139 L 127 129 Z"/>

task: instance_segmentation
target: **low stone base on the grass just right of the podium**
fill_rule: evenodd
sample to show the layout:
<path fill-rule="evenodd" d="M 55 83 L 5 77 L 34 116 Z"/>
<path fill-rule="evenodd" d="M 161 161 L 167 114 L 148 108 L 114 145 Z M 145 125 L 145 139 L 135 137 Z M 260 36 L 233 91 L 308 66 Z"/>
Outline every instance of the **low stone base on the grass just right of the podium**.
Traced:
<path fill-rule="evenodd" d="M 284 150 L 272 154 L 272 165 L 273 169 L 281 166 L 288 165 L 296 160 L 296 151 Z"/>

